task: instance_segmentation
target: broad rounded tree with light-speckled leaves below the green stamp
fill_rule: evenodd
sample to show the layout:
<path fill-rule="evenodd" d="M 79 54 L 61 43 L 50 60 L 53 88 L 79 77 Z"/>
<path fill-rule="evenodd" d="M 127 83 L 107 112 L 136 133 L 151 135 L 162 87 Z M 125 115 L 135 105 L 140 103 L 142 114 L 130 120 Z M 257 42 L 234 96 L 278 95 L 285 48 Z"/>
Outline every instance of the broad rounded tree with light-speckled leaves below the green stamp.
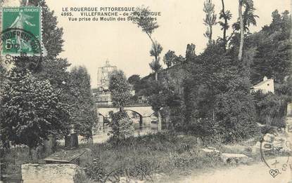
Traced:
<path fill-rule="evenodd" d="M 49 135 L 68 134 L 69 109 L 59 93 L 49 81 L 39 80 L 26 70 L 13 69 L 1 97 L 0 132 L 4 146 L 12 142 L 32 149 L 48 140 Z"/>

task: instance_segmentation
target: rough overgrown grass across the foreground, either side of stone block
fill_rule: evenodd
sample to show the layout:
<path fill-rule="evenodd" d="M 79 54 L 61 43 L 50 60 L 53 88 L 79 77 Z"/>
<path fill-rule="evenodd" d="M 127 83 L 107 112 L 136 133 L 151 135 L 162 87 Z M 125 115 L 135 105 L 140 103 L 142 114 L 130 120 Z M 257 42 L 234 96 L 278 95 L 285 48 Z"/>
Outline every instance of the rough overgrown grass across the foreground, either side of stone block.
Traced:
<path fill-rule="evenodd" d="M 84 170 L 92 182 L 102 182 L 116 177 L 153 179 L 156 175 L 188 174 L 191 170 L 208 170 L 224 166 L 218 156 L 203 155 L 199 149 L 215 147 L 226 150 L 215 140 L 202 145 L 192 135 L 157 133 L 120 140 L 118 146 L 109 140 L 103 144 L 81 144 L 91 149 L 94 162 Z M 31 163 L 26 147 L 16 147 L 0 154 L 4 173 L 20 174 L 20 165 Z M 34 151 L 34 162 L 37 163 Z M 44 158 L 39 156 L 39 158 Z"/>

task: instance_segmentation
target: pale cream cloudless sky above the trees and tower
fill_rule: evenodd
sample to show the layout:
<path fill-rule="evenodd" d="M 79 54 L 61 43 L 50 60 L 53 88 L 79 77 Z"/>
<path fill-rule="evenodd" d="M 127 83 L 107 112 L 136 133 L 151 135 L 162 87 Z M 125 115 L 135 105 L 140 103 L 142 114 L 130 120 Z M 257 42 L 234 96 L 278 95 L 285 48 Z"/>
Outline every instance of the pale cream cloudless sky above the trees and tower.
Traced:
<path fill-rule="evenodd" d="M 129 7 L 148 6 L 151 11 L 160 11 L 158 29 L 153 38 L 163 46 L 163 55 L 167 50 L 174 50 L 177 55 L 185 55 L 186 45 L 194 43 L 196 53 L 201 53 L 208 41 L 203 34 L 204 0 L 46 0 L 49 8 L 55 11 L 58 27 L 63 27 L 63 53 L 59 57 L 67 57 L 72 66 L 87 67 L 91 75 L 91 87 L 97 83 L 97 71 L 109 60 L 110 65 L 122 69 L 126 76 L 139 74 L 141 77 L 151 73 L 148 65 L 153 58 L 149 55 L 151 41 L 141 29 L 132 22 L 70 22 L 61 15 L 65 7 Z M 225 9 L 230 10 L 233 18 L 238 18 L 238 1 L 224 0 Z M 220 0 L 213 0 L 215 13 L 222 8 Z M 251 32 L 259 31 L 272 21 L 272 11 L 291 10 L 291 0 L 255 0 L 257 26 Z M 77 15 L 77 13 L 76 13 Z M 231 29 L 229 29 L 230 33 Z M 222 36 L 220 25 L 214 27 L 213 39 Z"/>

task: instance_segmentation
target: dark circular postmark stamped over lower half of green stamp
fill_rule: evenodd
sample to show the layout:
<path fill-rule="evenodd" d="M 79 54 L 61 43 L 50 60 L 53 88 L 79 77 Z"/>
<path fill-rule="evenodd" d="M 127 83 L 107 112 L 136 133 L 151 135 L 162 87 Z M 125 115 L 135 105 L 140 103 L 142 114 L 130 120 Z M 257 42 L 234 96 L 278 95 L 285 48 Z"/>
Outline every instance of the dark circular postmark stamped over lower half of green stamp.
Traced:
<path fill-rule="evenodd" d="M 25 29 L 5 29 L 0 34 L 0 62 L 8 72 L 13 65 L 36 69 L 42 62 L 42 43 L 39 40 Z"/>

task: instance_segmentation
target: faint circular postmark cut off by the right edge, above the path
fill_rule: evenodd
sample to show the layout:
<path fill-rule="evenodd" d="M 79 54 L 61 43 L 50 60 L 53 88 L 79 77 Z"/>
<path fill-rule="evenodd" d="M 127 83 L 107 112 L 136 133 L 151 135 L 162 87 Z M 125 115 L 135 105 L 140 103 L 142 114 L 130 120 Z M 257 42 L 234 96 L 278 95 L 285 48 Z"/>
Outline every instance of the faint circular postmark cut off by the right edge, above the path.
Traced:
<path fill-rule="evenodd" d="M 265 133 L 260 140 L 260 158 L 269 168 L 269 175 L 274 178 L 292 171 L 292 143 L 289 138 L 291 133 L 292 124 L 287 123 L 286 128 L 277 128 Z"/>

